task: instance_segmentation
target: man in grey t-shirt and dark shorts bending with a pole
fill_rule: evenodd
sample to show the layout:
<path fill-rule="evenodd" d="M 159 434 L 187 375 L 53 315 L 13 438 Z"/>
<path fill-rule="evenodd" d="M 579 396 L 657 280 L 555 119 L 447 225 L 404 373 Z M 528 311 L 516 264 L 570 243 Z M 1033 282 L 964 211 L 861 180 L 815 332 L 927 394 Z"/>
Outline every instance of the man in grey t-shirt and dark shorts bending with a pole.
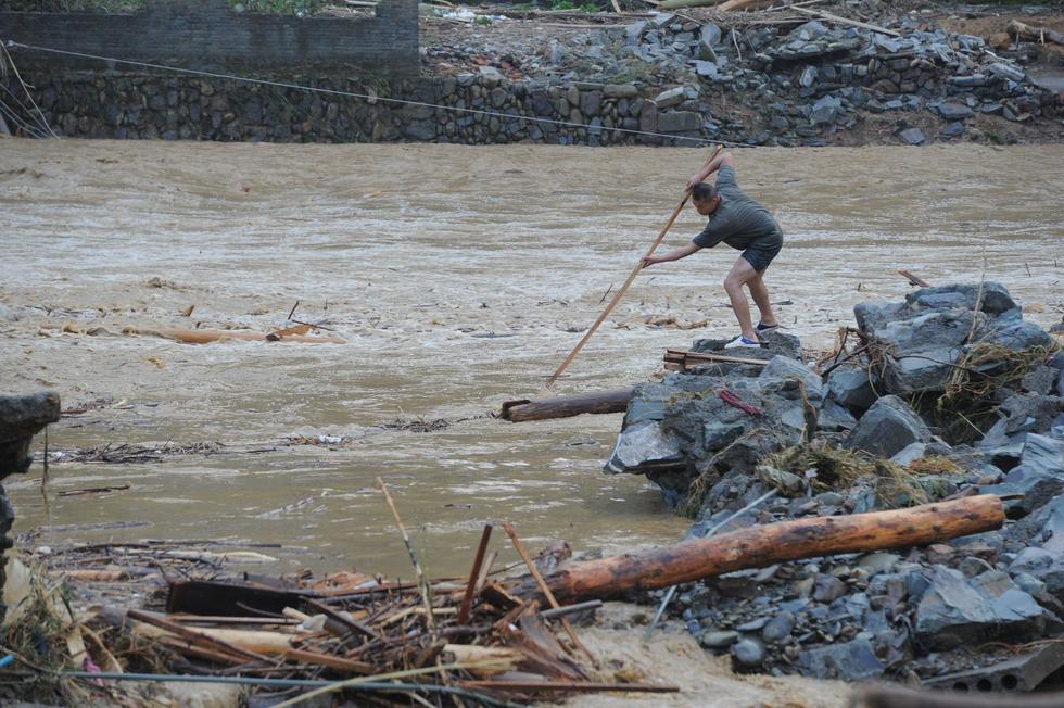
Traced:
<path fill-rule="evenodd" d="M 643 258 L 643 267 L 679 261 L 721 242 L 743 252 L 724 279 L 724 291 L 732 301 L 732 309 L 739 321 L 742 333 L 725 344 L 724 349 L 760 346 L 758 334 L 780 327 L 769 305 L 769 291 L 764 287 L 763 278 L 765 268 L 783 246 L 783 231 L 769 210 L 738 188 L 732 165 L 732 153 L 719 154 L 687 181 L 695 208 L 702 216 L 709 217 L 709 224 L 702 232 L 683 248 L 664 255 L 648 255 Z M 717 186 L 704 182 L 714 172 L 719 172 Z M 750 305 L 743 292 L 743 286 L 750 290 L 761 313 L 761 321 L 757 327 L 750 318 Z"/>

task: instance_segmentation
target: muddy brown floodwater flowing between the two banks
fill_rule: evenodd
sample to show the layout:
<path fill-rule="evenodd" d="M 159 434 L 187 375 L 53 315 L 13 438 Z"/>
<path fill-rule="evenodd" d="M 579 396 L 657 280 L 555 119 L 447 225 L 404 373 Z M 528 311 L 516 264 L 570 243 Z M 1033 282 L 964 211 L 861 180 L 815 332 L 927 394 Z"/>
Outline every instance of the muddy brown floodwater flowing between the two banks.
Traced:
<path fill-rule="evenodd" d="M 263 570 L 409 576 L 381 476 L 434 576 L 466 572 L 492 519 L 530 546 L 677 539 L 686 522 L 643 477 L 601 472 L 620 415 L 512 425 L 491 413 L 541 390 L 706 154 L 0 141 L 0 389 L 52 388 L 72 409 L 49 433 L 47 509 L 40 465 L 8 480 L 16 531 L 36 531 L 34 545 L 276 543 L 259 548 L 278 559 Z M 1061 319 L 1064 146 L 736 161 L 786 232 L 767 282 L 807 347 L 829 347 L 854 303 L 902 298 L 896 268 L 933 283 L 985 273 L 1035 321 Z M 688 210 L 667 243 L 702 223 Z M 556 390 L 644 381 L 666 347 L 735 333 L 720 282 L 736 253 L 645 271 Z M 122 333 L 267 332 L 296 302 L 294 319 L 346 343 Z"/>

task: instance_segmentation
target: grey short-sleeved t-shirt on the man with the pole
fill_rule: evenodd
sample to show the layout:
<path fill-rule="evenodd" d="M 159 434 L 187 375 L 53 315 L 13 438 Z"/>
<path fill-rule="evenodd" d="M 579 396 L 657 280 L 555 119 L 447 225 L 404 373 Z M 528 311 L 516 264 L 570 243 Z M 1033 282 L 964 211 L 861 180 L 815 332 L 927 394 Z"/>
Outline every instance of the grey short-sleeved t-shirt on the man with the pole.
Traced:
<path fill-rule="evenodd" d="M 693 240 L 711 249 L 724 242 L 739 251 L 748 248 L 773 249 L 783 243 L 783 230 L 769 210 L 750 199 L 735 184 L 735 169 L 725 165 L 717 175 L 721 202 L 710 214 L 709 224 Z"/>

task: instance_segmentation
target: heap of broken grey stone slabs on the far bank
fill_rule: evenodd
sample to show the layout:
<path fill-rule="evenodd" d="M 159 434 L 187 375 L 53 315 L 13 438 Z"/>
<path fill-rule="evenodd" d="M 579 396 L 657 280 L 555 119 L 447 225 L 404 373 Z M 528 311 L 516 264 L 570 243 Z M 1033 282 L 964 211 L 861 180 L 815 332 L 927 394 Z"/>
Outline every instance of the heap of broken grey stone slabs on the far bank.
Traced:
<path fill-rule="evenodd" d="M 1014 122 L 1054 114 L 1053 92 L 1028 81 L 1019 64 L 991 51 L 981 37 L 923 31 L 908 18 L 888 26 L 897 36 L 816 20 L 789 31 L 722 31 L 713 23 L 658 13 L 629 26 L 630 58 L 620 64 L 686 72 L 688 90 L 707 94 L 698 111 L 707 116 L 709 137 L 721 126 L 711 118 L 708 94 L 756 92 L 765 126 L 748 136 L 755 142 L 808 143 L 852 128 L 858 110 L 929 111 L 945 123 L 941 138 L 962 135 L 976 113 Z M 899 137 L 913 144 L 927 139 L 915 128 Z"/>

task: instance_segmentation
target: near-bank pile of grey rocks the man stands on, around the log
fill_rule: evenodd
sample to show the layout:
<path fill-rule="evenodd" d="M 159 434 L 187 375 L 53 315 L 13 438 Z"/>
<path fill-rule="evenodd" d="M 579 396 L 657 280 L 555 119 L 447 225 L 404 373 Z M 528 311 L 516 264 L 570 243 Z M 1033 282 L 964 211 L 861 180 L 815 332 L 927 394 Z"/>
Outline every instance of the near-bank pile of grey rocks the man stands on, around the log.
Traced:
<path fill-rule="evenodd" d="M 856 312 L 860 346 L 827 376 L 802 364 L 796 338 L 772 334 L 744 353 L 763 366 L 644 384 L 607 470 L 646 473 L 673 504 L 697 502 L 692 534 L 772 489 L 723 530 L 1006 496 L 1013 521 L 1000 531 L 731 573 L 683 589 L 675 611 L 746 670 L 1031 690 L 1064 665 L 1060 644 L 1018 657 L 983 645 L 1064 634 L 1064 353 L 991 282 Z M 964 413 L 966 431 L 950 425 Z"/>

